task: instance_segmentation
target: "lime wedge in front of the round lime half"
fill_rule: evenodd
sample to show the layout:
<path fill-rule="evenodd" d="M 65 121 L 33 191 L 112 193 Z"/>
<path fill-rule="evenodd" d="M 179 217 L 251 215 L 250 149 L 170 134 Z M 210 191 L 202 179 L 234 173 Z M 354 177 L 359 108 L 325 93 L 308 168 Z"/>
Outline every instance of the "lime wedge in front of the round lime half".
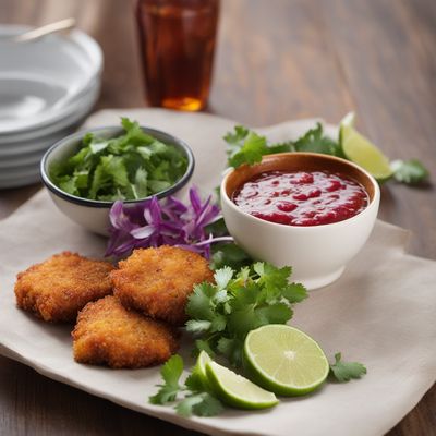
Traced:
<path fill-rule="evenodd" d="M 238 409 L 266 409 L 279 400 L 272 392 L 216 362 L 206 363 L 206 374 L 214 392 L 227 404 Z"/>

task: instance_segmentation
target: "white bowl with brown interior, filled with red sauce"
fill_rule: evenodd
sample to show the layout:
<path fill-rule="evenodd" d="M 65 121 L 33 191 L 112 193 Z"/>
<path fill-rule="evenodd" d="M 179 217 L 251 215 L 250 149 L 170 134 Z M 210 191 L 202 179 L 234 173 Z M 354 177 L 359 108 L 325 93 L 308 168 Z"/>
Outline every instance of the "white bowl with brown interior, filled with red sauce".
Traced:
<path fill-rule="evenodd" d="M 221 183 L 230 234 L 254 258 L 292 265 L 308 289 L 339 278 L 362 249 L 379 196 L 375 179 L 359 166 L 313 153 L 264 156 Z"/>

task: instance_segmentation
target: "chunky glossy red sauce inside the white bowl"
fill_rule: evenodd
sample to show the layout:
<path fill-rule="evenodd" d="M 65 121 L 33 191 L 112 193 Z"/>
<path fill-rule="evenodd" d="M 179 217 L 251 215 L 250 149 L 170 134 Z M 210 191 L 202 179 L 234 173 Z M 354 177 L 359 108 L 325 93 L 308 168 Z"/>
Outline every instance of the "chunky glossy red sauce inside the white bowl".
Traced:
<path fill-rule="evenodd" d="M 356 181 L 328 171 L 269 171 L 233 193 L 245 213 L 288 226 L 320 226 L 354 217 L 368 205 Z"/>

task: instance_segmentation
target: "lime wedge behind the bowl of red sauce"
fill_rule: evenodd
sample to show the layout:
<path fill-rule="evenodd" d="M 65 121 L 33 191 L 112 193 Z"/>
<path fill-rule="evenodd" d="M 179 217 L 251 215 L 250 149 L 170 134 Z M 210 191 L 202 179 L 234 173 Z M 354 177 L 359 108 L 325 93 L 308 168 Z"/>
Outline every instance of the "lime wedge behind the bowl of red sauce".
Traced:
<path fill-rule="evenodd" d="M 392 175 L 389 159 L 365 136 L 354 129 L 354 112 L 348 113 L 340 123 L 339 144 L 347 159 L 364 168 L 378 181 Z"/>

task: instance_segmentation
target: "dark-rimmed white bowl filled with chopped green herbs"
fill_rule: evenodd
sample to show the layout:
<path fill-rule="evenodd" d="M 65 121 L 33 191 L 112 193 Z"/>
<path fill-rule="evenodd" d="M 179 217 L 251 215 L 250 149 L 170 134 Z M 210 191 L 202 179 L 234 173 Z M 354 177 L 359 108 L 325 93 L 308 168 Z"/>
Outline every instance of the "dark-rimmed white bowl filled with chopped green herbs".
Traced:
<path fill-rule="evenodd" d="M 74 133 L 49 148 L 40 164 L 57 207 L 106 237 L 116 201 L 135 209 L 154 196 L 173 195 L 194 171 L 194 155 L 183 141 L 125 118 L 121 124 Z"/>

